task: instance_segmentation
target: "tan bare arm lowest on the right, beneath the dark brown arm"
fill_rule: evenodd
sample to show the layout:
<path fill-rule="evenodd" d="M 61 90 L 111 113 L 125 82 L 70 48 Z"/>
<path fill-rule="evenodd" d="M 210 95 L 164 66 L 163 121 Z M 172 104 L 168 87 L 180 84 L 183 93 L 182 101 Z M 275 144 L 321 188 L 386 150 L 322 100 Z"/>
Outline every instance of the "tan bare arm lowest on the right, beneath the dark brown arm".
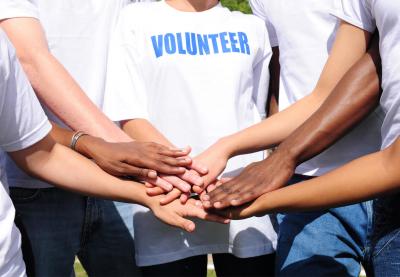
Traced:
<path fill-rule="evenodd" d="M 222 210 L 239 219 L 276 212 L 312 211 L 359 203 L 400 190 L 400 139 L 326 175 L 266 193 L 254 202 Z M 219 213 L 219 211 L 218 211 Z"/>

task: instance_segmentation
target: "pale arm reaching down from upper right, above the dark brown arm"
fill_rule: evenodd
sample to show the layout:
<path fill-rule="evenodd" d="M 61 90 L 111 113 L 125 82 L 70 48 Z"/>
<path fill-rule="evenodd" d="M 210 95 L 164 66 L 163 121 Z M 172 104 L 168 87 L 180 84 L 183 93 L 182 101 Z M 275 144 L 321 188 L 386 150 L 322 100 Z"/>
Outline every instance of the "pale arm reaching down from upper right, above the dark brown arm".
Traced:
<path fill-rule="evenodd" d="M 269 149 L 286 139 L 320 108 L 346 72 L 365 54 L 370 37 L 371 34 L 366 31 L 341 23 L 328 61 L 312 93 L 259 124 L 221 138 L 203 152 L 198 158 L 210 169 L 206 180 L 214 180 L 229 158 Z"/>

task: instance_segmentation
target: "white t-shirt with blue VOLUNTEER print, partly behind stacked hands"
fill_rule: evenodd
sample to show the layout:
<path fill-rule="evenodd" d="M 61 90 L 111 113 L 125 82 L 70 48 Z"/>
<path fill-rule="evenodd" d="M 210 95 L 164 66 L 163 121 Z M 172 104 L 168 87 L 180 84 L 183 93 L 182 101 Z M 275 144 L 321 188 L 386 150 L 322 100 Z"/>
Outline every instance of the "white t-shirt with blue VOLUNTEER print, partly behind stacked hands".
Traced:
<path fill-rule="evenodd" d="M 260 121 L 270 57 L 267 31 L 255 16 L 220 5 L 198 13 L 164 1 L 130 5 L 110 45 L 104 110 L 114 121 L 149 120 L 174 145 L 191 145 L 195 156 Z M 232 159 L 225 173 L 262 158 L 259 152 Z M 136 205 L 134 228 L 140 266 L 206 253 L 252 257 L 276 244 L 269 217 L 226 226 L 199 221 L 188 234 Z"/>

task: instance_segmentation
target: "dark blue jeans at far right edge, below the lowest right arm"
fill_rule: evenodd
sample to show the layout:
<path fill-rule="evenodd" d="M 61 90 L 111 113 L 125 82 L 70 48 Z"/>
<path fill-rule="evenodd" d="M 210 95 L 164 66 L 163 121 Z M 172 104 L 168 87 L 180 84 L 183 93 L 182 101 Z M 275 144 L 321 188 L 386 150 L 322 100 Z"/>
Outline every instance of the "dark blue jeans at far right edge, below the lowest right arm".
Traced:
<path fill-rule="evenodd" d="M 400 276 L 400 194 L 375 200 L 372 264 L 375 276 Z"/>

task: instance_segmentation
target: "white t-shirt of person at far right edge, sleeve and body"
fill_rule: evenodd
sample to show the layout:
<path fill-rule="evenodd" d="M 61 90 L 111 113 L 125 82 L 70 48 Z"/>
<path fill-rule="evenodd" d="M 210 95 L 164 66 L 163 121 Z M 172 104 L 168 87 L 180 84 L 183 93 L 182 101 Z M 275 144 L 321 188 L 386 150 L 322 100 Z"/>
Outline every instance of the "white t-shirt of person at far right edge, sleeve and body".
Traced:
<path fill-rule="evenodd" d="M 391 0 L 344 0 L 337 15 L 345 21 L 379 31 L 382 60 L 381 106 L 386 113 L 382 125 L 382 149 L 400 134 L 400 2 Z"/>

